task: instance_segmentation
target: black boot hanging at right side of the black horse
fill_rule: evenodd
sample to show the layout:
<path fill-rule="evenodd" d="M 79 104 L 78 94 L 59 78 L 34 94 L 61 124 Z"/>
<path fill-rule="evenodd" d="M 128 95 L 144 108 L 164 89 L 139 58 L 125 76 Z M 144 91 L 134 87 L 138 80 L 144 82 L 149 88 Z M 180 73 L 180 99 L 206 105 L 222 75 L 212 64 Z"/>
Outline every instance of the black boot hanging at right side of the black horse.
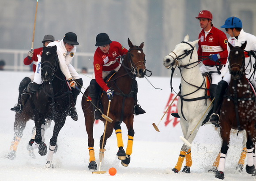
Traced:
<path fill-rule="evenodd" d="M 83 86 L 83 79 L 82 78 L 75 79 L 75 82 L 77 82 L 77 87 L 80 90 Z M 73 96 L 73 99 L 74 99 L 74 106 L 69 109 L 68 115 L 71 116 L 71 118 L 74 121 L 77 121 L 78 120 L 78 115 L 77 115 L 77 112 L 76 112 L 75 105 L 76 105 L 77 96 L 79 95 L 80 91 L 78 89 L 74 89 L 74 88 L 71 88 L 71 89 L 72 89 L 72 96 Z"/>

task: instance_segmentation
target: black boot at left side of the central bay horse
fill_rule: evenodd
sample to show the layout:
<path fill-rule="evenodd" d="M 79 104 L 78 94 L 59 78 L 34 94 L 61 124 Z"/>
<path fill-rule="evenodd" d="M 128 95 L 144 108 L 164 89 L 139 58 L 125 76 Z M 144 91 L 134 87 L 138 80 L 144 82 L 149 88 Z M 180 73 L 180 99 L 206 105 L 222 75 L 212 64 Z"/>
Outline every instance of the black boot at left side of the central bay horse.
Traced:
<path fill-rule="evenodd" d="M 91 98 L 91 103 L 93 103 L 94 118 L 96 120 L 102 118 L 102 113 L 97 108 L 99 89 L 100 89 L 100 86 L 98 85 L 96 80 L 92 79 L 90 81 L 90 86 L 89 86 L 89 96 Z"/>

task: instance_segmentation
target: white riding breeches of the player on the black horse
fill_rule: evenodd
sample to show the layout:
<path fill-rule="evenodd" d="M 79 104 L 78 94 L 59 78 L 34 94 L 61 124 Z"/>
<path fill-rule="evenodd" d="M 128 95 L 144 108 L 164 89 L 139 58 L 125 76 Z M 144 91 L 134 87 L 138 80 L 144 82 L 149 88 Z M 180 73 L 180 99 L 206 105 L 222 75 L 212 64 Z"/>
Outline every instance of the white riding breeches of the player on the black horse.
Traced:
<path fill-rule="evenodd" d="M 80 78 L 79 74 L 77 73 L 75 68 L 70 63 L 68 64 L 68 70 L 69 70 L 72 78 L 74 78 L 74 79 Z M 33 79 L 31 79 L 31 80 L 33 80 Z M 37 68 L 36 68 L 36 72 L 34 75 L 34 82 L 37 84 L 43 83 L 43 80 L 41 78 L 41 59 L 38 59 Z"/>

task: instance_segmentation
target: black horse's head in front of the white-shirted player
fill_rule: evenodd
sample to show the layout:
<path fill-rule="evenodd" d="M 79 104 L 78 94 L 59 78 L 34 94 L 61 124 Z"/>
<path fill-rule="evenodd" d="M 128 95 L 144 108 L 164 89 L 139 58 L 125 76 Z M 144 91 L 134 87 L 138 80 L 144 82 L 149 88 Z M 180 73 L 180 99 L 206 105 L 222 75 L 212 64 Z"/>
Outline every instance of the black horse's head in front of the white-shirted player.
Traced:
<path fill-rule="evenodd" d="M 49 81 L 53 79 L 55 72 L 58 67 L 58 55 L 57 55 L 57 47 L 54 45 L 53 47 L 49 46 L 44 48 L 41 55 L 41 77 L 43 81 Z"/>

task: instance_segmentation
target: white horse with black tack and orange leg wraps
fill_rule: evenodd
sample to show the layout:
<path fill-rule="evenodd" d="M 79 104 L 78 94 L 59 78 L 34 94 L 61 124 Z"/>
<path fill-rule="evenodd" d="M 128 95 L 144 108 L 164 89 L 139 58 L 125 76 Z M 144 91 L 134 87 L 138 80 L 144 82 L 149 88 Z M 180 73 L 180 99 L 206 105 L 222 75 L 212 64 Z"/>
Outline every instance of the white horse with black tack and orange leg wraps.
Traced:
<path fill-rule="evenodd" d="M 190 173 L 192 166 L 191 144 L 202 125 L 204 119 L 212 108 L 209 96 L 206 96 L 206 78 L 201 74 L 199 69 L 198 55 L 195 45 L 199 40 L 190 42 L 188 35 L 184 37 L 184 41 L 177 44 L 175 49 L 165 58 L 163 65 L 169 69 L 170 67 L 178 67 L 181 70 L 181 93 L 178 100 L 178 113 L 181 117 L 181 129 L 184 135 L 184 144 L 181 147 L 180 156 L 176 166 L 172 169 L 178 173 L 181 170 L 182 163 L 186 158 L 186 165 L 182 172 Z M 243 171 L 246 156 L 246 137 L 243 140 L 243 150 L 238 161 L 236 169 Z M 212 168 L 209 171 L 216 172 L 219 164 L 217 156 Z"/>

